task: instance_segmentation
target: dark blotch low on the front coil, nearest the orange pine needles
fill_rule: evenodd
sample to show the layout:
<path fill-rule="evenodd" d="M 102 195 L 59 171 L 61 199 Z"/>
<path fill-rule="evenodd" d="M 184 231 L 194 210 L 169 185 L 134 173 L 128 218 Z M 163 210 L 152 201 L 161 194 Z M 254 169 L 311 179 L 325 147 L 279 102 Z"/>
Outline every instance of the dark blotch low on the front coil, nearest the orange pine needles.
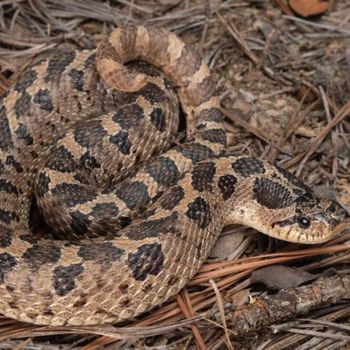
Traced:
<path fill-rule="evenodd" d="M 164 256 L 159 243 L 143 244 L 135 253 L 128 255 L 128 266 L 137 281 L 148 275 L 157 275 L 163 268 Z"/>

